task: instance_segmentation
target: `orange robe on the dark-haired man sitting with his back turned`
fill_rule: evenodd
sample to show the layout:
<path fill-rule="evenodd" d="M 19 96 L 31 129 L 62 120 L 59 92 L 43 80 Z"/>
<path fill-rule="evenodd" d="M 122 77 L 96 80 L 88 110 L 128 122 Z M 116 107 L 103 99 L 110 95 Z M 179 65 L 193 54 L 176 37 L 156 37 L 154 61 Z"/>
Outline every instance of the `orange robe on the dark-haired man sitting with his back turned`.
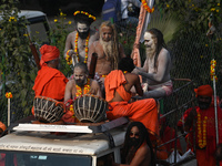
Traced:
<path fill-rule="evenodd" d="M 109 120 L 115 120 L 122 116 L 128 116 L 131 121 L 138 121 L 143 123 L 150 134 L 159 135 L 159 122 L 158 122 L 158 106 L 155 100 L 147 98 L 137 102 L 128 103 L 131 98 L 131 94 L 124 90 L 127 83 L 124 74 L 120 70 L 112 71 L 104 80 L 105 100 L 110 102 L 114 92 L 117 91 L 124 100 L 121 102 L 109 103 L 109 111 L 107 117 Z"/>

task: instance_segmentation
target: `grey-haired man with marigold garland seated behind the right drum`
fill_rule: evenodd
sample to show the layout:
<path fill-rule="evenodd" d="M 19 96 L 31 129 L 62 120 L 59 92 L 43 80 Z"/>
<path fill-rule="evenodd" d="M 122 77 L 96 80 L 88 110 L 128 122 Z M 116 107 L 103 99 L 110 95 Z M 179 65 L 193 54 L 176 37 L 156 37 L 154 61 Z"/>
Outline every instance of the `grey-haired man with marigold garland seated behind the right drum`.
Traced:
<path fill-rule="evenodd" d="M 102 96 L 99 83 L 95 80 L 88 79 L 88 75 L 87 64 L 77 63 L 74 65 L 73 80 L 70 80 L 65 86 L 64 102 L 68 102 L 69 100 L 73 101 L 75 97 L 83 94 Z M 77 121 L 73 115 L 73 110 L 68 111 L 62 120 L 64 122 L 73 123 Z"/>

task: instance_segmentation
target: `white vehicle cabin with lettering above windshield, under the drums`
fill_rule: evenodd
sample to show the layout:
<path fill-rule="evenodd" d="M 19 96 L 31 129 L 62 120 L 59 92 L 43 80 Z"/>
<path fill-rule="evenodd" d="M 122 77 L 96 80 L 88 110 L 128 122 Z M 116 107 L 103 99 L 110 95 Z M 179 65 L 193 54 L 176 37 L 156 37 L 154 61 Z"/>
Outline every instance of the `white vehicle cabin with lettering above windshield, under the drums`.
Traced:
<path fill-rule="evenodd" d="M 122 118 L 121 124 L 128 122 Z M 119 124 L 118 121 L 110 123 Z M 108 157 L 120 163 L 124 127 L 19 124 L 0 138 L 6 166 L 105 166 Z M 56 131 L 57 134 L 54 133 Z M 63 132 L 63 133 L 60 133 Z M 65 134 L 64 134 L 65 133 Z M 113 144 L 113 145 L 112 145 Z M 3 158 L 2 158 L 3 157 Z M 13 159 L 12 159 L 13 158 Z"/>

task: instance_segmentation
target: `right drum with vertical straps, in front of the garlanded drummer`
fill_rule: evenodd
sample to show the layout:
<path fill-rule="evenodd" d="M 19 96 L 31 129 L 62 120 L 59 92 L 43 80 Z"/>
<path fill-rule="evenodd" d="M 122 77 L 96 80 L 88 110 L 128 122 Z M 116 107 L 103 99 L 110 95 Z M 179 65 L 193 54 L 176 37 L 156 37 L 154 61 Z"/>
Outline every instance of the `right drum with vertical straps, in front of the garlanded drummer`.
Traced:
<path fill-rule="evenodd" d="M 85 94 L 74 100 L 74 116 L 81 123 L 99 123 L 107 118 L 108 102 L 103 98 Z"/>

